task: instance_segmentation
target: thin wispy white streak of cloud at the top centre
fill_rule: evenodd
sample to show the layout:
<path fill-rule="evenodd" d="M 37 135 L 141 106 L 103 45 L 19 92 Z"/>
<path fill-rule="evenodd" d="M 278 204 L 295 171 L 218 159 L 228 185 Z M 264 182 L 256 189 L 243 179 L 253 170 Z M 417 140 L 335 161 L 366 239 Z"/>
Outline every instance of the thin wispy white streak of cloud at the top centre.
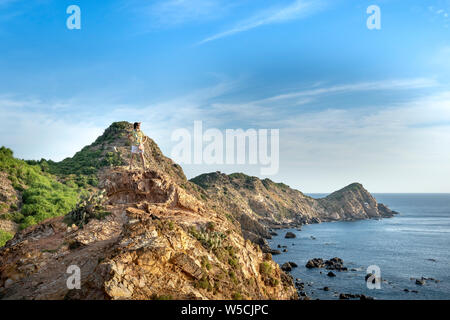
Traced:
<path fill-rule="evenodd" d="M 198 44 L 214 41 L 220 38 L 228 37 L 240 32 L 255 29 L 264 25 L 283 23 L 295 19 L 300 19 L 322 7 L 322 1 L 296 0 L 284 7 L 274 7 L 256 13 L 249 19 L 237 23 L 234 27 L 217 33 L 213 36 L 203 39 Z"/>

